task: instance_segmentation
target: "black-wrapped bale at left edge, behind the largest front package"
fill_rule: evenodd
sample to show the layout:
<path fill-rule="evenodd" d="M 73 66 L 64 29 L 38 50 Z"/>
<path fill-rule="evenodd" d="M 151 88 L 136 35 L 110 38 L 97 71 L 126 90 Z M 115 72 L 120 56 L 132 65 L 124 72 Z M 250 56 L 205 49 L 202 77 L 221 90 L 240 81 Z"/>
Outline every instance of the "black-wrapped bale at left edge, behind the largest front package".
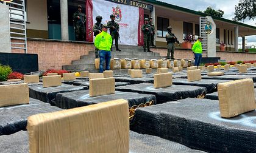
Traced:
<path fill-rule="evenodd" d="M 0 135 L 26 130 L 27 117 L 62 110 L 43 101 L 29 98 L 29 104 L 0 107 Z"/>

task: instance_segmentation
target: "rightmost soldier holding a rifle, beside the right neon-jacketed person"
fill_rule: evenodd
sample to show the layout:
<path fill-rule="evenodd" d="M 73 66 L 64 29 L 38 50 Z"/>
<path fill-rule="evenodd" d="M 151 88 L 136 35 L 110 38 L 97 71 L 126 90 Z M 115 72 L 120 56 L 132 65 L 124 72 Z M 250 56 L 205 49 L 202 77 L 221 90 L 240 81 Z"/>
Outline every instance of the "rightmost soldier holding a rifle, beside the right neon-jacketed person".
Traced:
<path fill-rule="evenodd" d="M 180 44 L 180 42 L 178 41 L 177 37 L 174 35 L 174 33 L 171 33 L 172 27 L 167 27 L 167 31 L 168 33 L 166 33 L 166 41 L 167 41 L 167 56 L 166 58 L 170 58 L 170 52 L 171 52 L 171 58 L 174 59 L 174 43 L 177 42 L 178 44 Z"/>

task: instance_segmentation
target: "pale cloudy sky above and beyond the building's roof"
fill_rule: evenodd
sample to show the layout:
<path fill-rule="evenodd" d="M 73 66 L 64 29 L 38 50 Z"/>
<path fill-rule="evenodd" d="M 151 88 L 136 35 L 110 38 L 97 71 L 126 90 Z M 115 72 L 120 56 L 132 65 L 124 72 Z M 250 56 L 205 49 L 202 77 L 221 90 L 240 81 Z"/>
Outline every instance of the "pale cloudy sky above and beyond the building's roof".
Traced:
<path fill-rule="evenodd" d="M 187 9 L 191 10 L 201 10 L 204 11 L 207 9 L 207 7 L 211 6 L 215 10 L 222 10 L 224 11 L 224 15 L 222 18 L 226 19 L 231 19 L 235 16 L 235 5 L 238 4 L 239 0 L 214 0 L 214 1 L 209 1 L 209 0 L 183 0 L 183 1 L 177 1 L 177 0 L 158 0 L 162 2 L 166 2 L 172 5 L 177 5 L 180 7 L 185 7 Z M 252 26 L 256 27 L 256 20 L 249 20 L 245 19 L 243 22 L 244 24 L 249 24 Z M 247 39 L 247 45 L 252 46 L 253 44 L 256 46 L 256 35 L 254 36 L 246 36 Z M 241 38 L 238 38 L 238 43 L 241 44 Z"/>

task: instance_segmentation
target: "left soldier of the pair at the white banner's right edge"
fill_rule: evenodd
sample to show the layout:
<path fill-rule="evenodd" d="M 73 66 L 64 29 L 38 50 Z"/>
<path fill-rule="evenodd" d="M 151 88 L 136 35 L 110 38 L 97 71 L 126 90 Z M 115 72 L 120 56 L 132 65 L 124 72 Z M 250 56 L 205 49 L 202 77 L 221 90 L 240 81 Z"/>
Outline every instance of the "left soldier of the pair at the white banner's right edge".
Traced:
<path fill-rule="evenodd" d="M 148 18 L 144 18 L 144 24 L 142 25 L 141 30 L 144 36 L 144 45 L 143 45 L 144 52 L 146 52 L 146 47 L 148 48 L 148 52 L 151 52 L 151 50 L 149 49 L 150 49 L 150 43 L 151 43 L 151 35 L 153 32 L 152 32 L 152 27 L 149 24 Z"/>

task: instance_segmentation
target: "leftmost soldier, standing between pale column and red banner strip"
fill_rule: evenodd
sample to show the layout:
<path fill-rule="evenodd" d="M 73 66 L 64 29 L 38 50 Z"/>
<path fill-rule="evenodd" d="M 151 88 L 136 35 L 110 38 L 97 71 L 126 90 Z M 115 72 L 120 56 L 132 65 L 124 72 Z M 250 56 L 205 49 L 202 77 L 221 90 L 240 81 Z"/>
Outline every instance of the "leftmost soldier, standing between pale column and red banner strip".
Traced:
<path fill-rule="evenodd" d="M 85 41 L 85 21 L 86 16 L 82 13 L 82 6 L 77 6 L 77 11 L 73 15 L 76 41 Z"/>

